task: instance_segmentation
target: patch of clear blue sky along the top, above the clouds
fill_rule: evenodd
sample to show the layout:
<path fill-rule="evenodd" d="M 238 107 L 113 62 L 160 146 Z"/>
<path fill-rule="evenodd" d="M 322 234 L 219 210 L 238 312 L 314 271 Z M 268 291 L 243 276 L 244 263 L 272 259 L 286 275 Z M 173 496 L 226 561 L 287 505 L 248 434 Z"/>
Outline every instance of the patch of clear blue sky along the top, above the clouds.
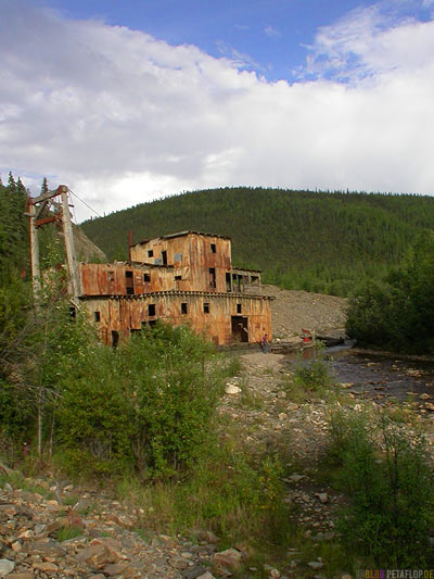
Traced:
<path fill-rule="evenodd" d="M 431 2 L 381 3 L 388 26 L 405 17 L 431 18 Z M 51 0 L 66 17 L 97 18 L 143 30 L 170 45 L 193 45 L 215 56 L 244 61 L 268 80 L 299 80 L 318 30 L 362 0 Z M 380 4 L 378 4 L 380 5 Z"/>

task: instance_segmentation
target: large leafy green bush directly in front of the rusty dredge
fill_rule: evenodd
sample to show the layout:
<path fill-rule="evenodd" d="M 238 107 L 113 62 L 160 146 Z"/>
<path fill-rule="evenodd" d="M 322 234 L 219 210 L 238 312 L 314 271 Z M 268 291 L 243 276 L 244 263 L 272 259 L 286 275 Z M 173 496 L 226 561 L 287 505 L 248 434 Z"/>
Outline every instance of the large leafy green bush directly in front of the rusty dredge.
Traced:
<path fill-rule="evenodd" d="M 188 328 L 164 325 L 115 351 L 89 342 L 69 355 L 58 410 L 61 461 L 73 471 L 129 468 L 145 478 L 191 466 L 220 391 L 220 376 L 206 369 L 213 356 Z"/>

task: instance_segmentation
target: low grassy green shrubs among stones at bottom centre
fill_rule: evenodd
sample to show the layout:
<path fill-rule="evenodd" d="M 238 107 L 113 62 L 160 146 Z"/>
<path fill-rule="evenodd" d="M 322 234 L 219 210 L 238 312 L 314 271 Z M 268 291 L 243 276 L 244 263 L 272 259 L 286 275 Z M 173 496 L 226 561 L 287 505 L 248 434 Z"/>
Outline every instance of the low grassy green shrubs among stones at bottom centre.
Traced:
<path fill-rule="evenodd" d="M 240 440 L 210 436 L 188 477 L 152 487 L 129 478 L 119 484 L 119 492 L 144 511 L 146 529 L 173 533 L 207 529 L 220 538 L 221 549 L 237 541 L 257 542 L 264 549 L 288 539 L 290 518 L 281 476 L 278 458 L 254 461 Z"/>

